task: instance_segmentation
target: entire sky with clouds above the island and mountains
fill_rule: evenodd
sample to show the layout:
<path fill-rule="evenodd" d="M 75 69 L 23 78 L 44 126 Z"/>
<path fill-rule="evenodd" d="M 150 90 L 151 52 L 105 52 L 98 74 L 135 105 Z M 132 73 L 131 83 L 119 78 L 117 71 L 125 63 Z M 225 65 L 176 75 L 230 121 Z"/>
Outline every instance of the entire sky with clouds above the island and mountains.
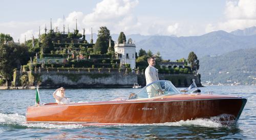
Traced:
<path fill-rule="evenodd" d="M 256 26 L 255 0 L 2 0 L 0 33 L 10 34 L 14 41 L 25 41 L 45 26 L 63 32 L 97 34 L 106 26 L 111 34 L 200 36 L 212 31 L 231 32 Z"/>

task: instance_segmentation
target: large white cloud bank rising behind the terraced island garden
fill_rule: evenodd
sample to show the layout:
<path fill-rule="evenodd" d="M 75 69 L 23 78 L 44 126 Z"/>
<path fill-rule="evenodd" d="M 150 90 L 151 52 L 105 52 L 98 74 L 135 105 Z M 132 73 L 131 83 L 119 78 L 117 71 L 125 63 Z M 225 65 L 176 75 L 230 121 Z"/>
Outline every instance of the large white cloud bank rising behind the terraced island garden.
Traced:
<path fill-rule="evenodd" d="M 65 32 L 68 31 L 68 26 L 70 32 L 73 32 L 77 19 L 77 28 L 80 33 L 85 28 L 86 34 L 90 34 L 91 27 L 93 27 L 93 33 L 97 33 L 100 26 L 108 27 L 112 34 L 119 34 L 120 32 L 127 32 L 125 34 L 136 33 L 135 31 L 140 29 L 141 23 L 132 11 L 138 4 L 138 0 L 103 0 L 96 5 L 92 13 L 83 14 L 82 12 L 74 11 L 64 21 L 63 17 L 57 20 L 52 19 L 52 28 L 55 30 L 58 27 L 58 30 L 62 32 L 63 24 L 65 24 Z M 32 35 L 35 38 L 38 37 L 39 25 L 41 26 L 41 33 L 45 33 L 45 24 L 49 31 L 50 20 L 5 22 L 0 23 L 0 30 L 2 33 L 10 34 L 15 41 L 19 39 L 20 42 L 24 42 L 25 35 L 27 40 L 31 39 Z"/>

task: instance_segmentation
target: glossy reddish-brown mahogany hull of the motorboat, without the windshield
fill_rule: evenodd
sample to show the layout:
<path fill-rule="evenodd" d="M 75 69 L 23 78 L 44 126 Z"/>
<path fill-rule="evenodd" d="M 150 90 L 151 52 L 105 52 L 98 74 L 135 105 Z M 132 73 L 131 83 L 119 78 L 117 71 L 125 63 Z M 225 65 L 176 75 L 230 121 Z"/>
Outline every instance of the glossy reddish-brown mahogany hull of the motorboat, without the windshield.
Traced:
<path fill-rule="evenodd" d="M 152 124 L 227 114 L 228 121 L 237 121 L 245 104 L 245 98 L 202 97 L 44 105 L 28 107 L 26 119 L 28 123 Z"/>

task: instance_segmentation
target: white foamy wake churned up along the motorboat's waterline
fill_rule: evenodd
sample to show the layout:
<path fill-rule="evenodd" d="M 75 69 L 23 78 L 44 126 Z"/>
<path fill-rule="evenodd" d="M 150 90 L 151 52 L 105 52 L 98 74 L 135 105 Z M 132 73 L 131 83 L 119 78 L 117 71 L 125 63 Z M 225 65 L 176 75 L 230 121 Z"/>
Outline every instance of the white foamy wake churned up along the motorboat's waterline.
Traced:
<path fill-rule="evenodd" d="M 196 120 L 186 120 L 179 122 L 169 122 L 169 123 L 157 123 L 157 124 L 123 124 L 114 126 L 199 126 L 199 127 L 223 127 L 224 125 L 220 122 L 223 118 L 230 118 L 229 115 L 220 115 L 217 117 L 212 117 L 210 119 L 196 119 Z M 0 125 L 2 126 L 21 126 L 27 128 L 43 128 L 43 129 L 74 129 L 88 127 L 82 124 L 51 124 L 51 123 L 26 123 L 26 117 L 19 114 L 2 114 L 0 113 Z M 113 127 L 113 125 L 104 127 Z"/>

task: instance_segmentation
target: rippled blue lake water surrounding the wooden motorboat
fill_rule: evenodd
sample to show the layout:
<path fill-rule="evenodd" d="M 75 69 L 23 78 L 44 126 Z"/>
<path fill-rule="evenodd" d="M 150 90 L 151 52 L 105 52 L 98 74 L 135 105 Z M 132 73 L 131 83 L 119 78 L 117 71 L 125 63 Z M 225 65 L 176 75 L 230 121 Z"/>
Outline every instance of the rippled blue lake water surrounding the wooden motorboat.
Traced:
<path fill-rule="evenodd" d="M 214 94 L 248 99 L 236 124 L 223 125 L 207 119 L 174 123 L 81 126 L 26 124 L 27 106 L 35 103 L 35 90 L 0 90 L 0 139 L 256 139 L 256 86 L 209 86 Z M 101 101 L 127 96 L 138 89 L 67 89 L 72 101 Z M 54 102 L 53 89 L 40 89 L 42 102 Z"/>

